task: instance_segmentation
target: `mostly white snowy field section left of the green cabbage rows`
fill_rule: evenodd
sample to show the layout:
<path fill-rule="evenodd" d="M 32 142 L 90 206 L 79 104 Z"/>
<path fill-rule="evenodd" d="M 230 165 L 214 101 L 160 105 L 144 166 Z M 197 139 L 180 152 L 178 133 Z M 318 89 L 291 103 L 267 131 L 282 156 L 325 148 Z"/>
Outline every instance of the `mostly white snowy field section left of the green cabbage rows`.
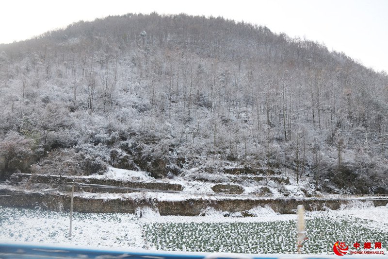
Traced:
<path fill-rule="evenodd" d="M 0 242 L 44 242 L 90 246 L 143 247 L 141 227 L 133 214 L 73 213 L 0 207 Z"/>

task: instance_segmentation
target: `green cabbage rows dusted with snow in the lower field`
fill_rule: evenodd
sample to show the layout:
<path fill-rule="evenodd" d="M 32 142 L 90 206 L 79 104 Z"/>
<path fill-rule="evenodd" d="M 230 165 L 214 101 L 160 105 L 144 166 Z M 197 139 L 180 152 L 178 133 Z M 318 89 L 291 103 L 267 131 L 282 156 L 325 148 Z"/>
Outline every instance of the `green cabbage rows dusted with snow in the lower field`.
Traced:
<path fill-rule="evenodd" d="M 308 240 L 303 251 L 333 253 L 333 244 L 344 241 L 382 242 L 387 248 L 388 233 L 374 223 L 358 218 L 318 216 L 308 219 Z M 156 249 L 195 252 L 280 253 L 296 252 L 296 221 L 255 223 L 155 223 L 144 226 L 145 239 Z"/>

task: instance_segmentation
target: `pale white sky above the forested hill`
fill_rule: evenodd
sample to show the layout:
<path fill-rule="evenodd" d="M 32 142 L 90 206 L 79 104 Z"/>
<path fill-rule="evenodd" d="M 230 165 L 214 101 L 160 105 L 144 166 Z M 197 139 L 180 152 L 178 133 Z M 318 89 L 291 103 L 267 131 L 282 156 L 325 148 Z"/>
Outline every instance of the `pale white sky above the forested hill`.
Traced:
<path fill-rule="evenodd" d="M 79 20 L 151 13 L 223 16 L 324 43 L 388 72 L 388 0 L 0 0 L 0 43 Z"/>

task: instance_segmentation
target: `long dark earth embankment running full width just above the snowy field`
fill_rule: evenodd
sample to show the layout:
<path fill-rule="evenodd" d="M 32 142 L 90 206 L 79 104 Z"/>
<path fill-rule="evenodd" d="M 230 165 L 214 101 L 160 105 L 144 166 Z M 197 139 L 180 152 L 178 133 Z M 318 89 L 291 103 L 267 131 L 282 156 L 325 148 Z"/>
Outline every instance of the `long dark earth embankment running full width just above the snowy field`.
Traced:
<path fill-rule="evenodd" d="M 0 206 L 35 208 L 49 210 L 69 210 L 70 196 L 54 193 L 20 194 L 10 190 L 0 190 Z M 6 196 L 5 196 L 6 195 Z M 372 202 L 374 206 L 386 206 L 388 199 L 357 199 L 359 202 Z M 198 216 L 203 209 L 213 207 L 220 211 L 246 212 L 254 207 L 271 207 L 281 214 L 295 213 L 297 205 L 303 204 L 308 211 L 338 209 L 349 204 L 352 199 L 320 199 L 320 198 L 263 198 L 263 199 L 185 199 L 181 201 L 158 201 L 152 199 L 104 199 L 74 197 L 74 211 L 94 213 L 134 213 L 138 207 L 158 208 L 161 215 Z"/>

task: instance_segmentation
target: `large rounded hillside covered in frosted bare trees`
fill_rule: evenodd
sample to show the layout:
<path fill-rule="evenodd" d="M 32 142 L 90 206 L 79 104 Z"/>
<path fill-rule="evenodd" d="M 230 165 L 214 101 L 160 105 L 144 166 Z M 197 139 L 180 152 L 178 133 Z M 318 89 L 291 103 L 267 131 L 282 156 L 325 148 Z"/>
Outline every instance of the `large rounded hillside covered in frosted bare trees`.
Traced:
<path fill-rule="evenodd" d="M 388 193 L 387 74 L 266 27 L 128 14 L 3 44 L 0 108 L 2 179 L 240 168 Z"/>

